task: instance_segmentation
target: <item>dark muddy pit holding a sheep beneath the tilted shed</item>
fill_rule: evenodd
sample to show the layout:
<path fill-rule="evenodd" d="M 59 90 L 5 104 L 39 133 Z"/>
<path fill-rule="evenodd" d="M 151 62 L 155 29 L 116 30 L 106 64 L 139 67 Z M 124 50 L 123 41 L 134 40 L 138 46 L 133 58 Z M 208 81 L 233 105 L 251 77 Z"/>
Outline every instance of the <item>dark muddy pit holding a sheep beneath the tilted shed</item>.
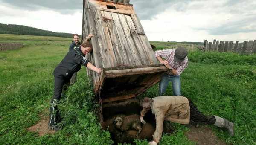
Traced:
<path fill-rule="evenodd" d="M 102 105 L 102 128 L 111 133 L 111 138 L 118 143 L 131 143 L 134 139 L 152 140 L 155 131 L 155 118 L 151 111 L 145 114 L 145 124 L 140 122 L 140 103 L 138 99 L 128 99 L 122 102 L 111 102 Z M 116 125 L 116 118 L 122 118 L 122 125 Z M 169 124 L 165 124 L 163 131 L 172 133 Z M 139 133 L 139 129 L 141 131 Z"/>

